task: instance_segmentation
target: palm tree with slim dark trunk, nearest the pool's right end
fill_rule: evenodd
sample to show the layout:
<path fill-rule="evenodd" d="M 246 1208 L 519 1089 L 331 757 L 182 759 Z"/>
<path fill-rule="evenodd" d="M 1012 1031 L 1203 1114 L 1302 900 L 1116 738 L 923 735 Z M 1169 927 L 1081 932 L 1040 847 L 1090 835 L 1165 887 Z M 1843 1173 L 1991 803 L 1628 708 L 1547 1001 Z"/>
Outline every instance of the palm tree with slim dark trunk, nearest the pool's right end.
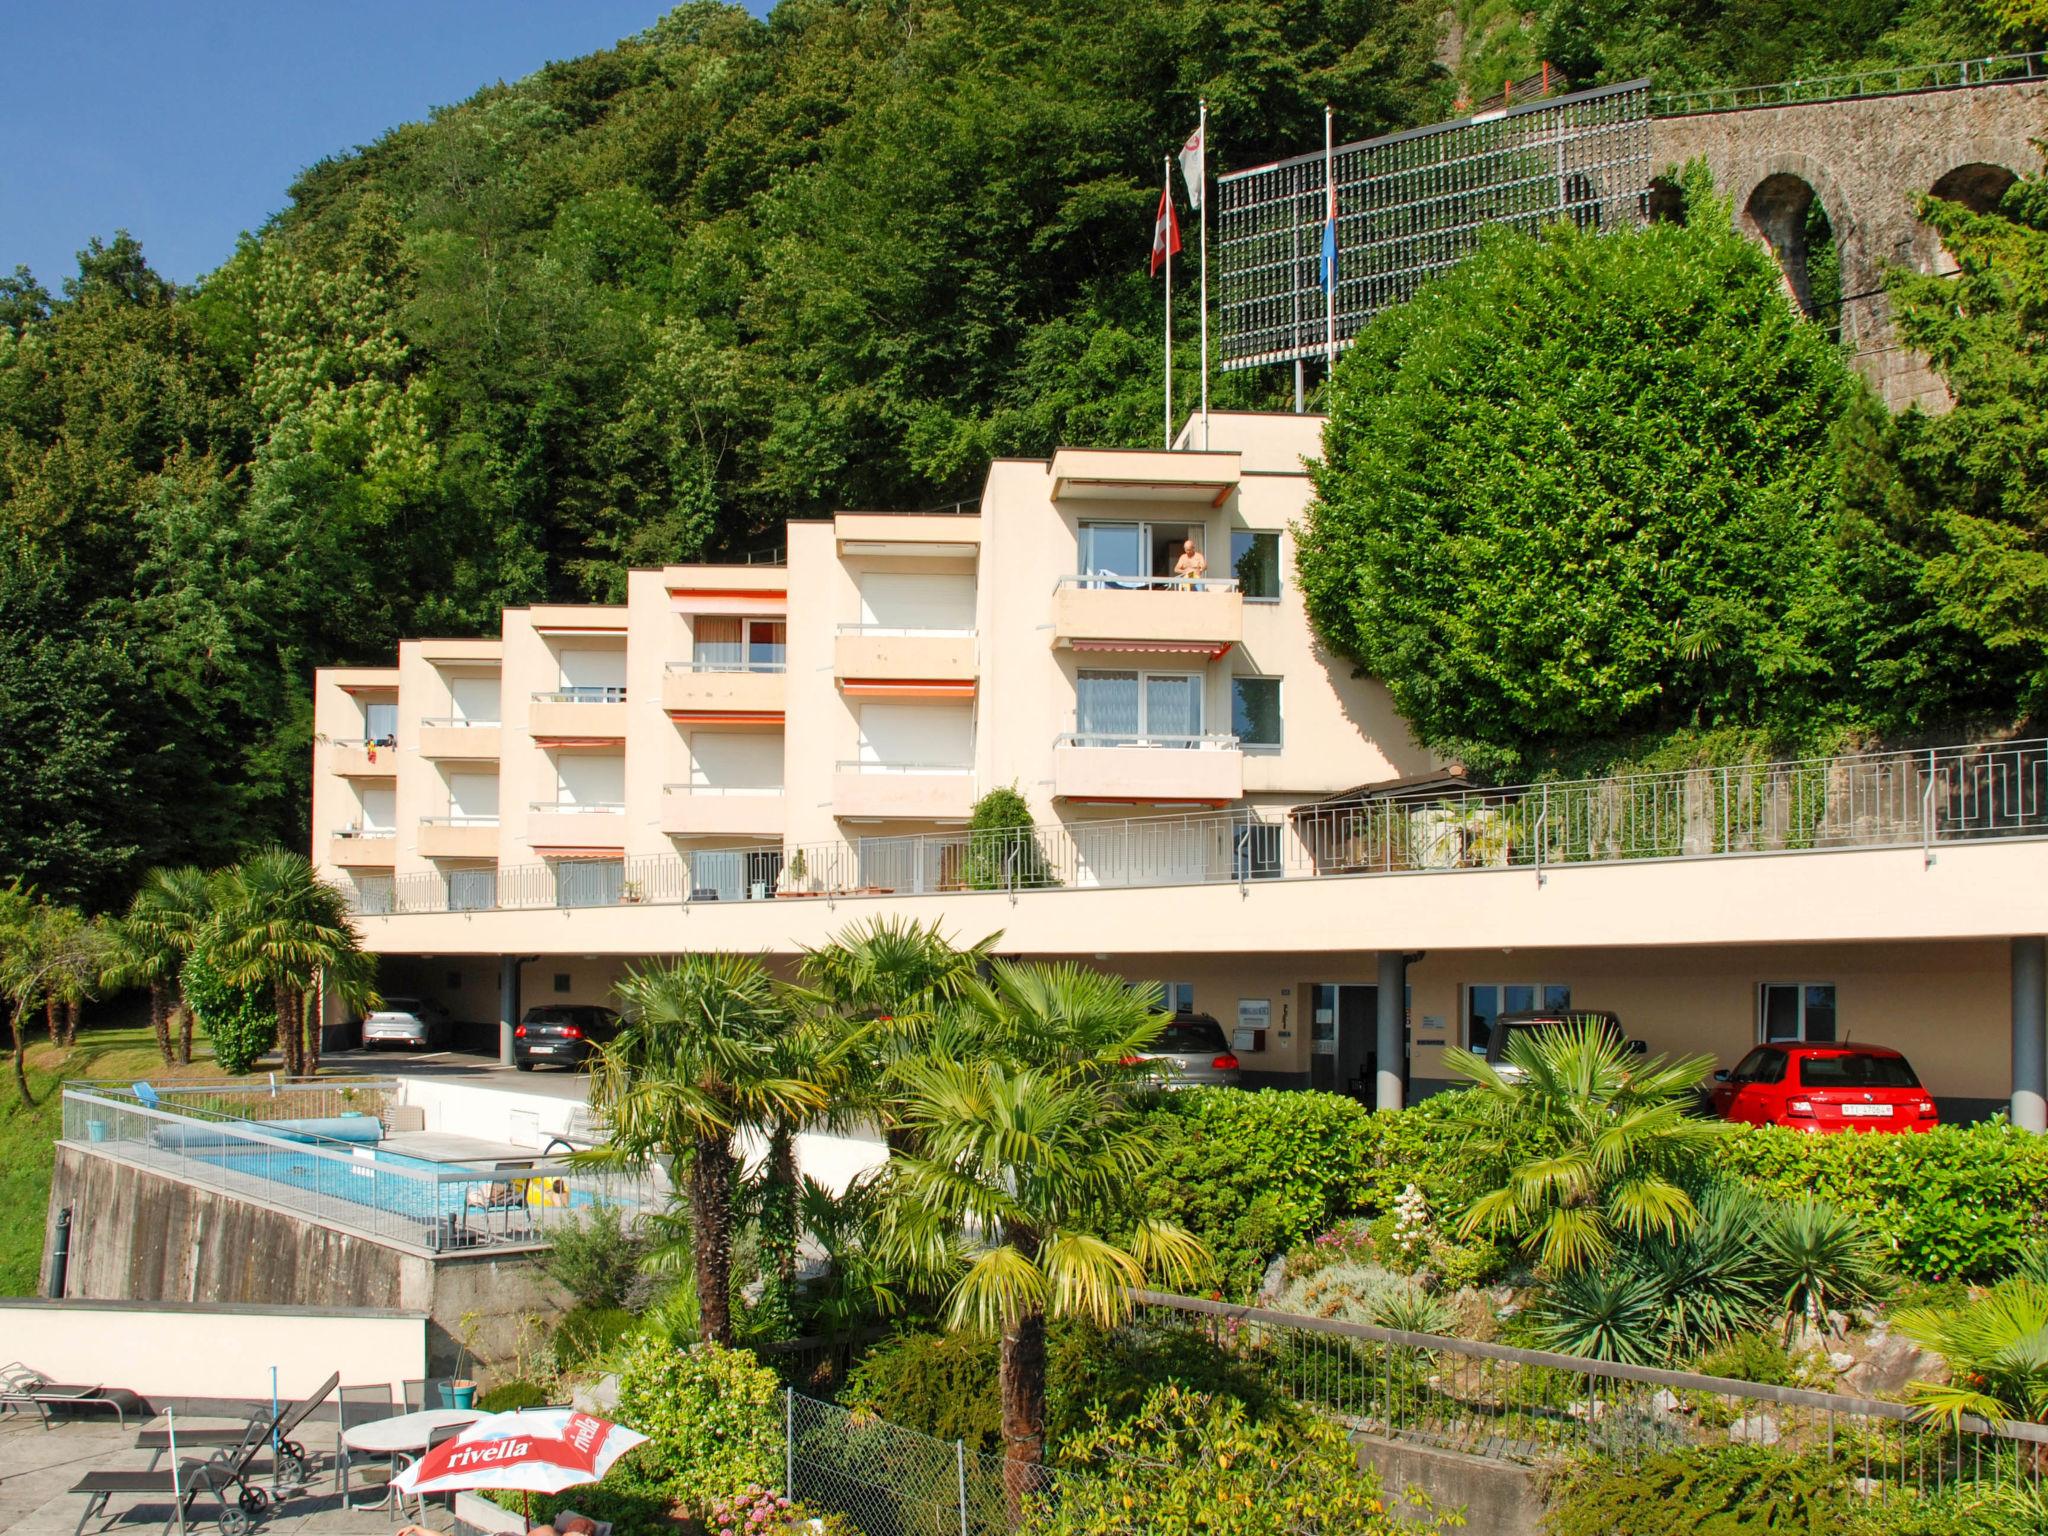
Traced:
<path fill-rule="evenodd" d="M 625 1028 L 590 1077 L 608 1139 L 594 1161 L 666 1159 L 682 1174 L 705 1337 L 729 1346 L 735 1137 L 821 1110 L 825 1094 L 778 1049 L 788 1012 L 760 961 L 686 954 L 629 971 L 618 997 Z"/>

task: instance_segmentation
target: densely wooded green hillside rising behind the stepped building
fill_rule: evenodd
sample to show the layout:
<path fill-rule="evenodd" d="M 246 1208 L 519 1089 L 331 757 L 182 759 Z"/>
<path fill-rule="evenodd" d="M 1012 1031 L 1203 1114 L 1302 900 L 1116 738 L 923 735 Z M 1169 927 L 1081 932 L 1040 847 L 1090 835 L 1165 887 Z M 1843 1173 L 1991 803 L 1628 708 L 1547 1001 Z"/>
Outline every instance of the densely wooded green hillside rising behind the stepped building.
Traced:
<path fill-rule="evenodd" d="M 1772 74 L 2032 25 L 1806 10 L 694 0 L 309 168 L 195 287 L 121 233 L 16 270 L 0 883 L 104 909 L 152 864 L 301 846 L 315 666 L 973 496 L 991 455 L 1153 440 L 1147 233 L 1202 96 L 1229 170 L 1315 143 L 1325 102 L 1346 137 L 1444 117 L 1516 49 Z"/>

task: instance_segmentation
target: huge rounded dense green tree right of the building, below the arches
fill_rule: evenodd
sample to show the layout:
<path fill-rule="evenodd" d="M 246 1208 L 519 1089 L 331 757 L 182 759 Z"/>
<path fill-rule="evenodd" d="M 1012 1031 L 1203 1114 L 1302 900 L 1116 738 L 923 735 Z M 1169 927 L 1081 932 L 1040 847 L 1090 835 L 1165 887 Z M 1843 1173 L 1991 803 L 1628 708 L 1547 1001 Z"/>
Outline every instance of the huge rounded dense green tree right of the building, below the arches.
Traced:
<path fill-rule="evenodd" d="M 1311 616 L 1477 768 L 1853 709 L 1831 432 L 1862 385 L 1688 186 L 1683 225 L 1491 236 L 1337 365 Z"/>

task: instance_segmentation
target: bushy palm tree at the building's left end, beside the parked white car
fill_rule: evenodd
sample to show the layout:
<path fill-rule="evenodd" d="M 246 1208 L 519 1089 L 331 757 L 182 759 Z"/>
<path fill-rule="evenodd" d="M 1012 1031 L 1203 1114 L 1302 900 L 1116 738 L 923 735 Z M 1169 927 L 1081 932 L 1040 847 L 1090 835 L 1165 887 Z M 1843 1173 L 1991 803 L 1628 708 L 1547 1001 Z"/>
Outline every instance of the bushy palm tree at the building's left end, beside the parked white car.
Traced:
<path fill-rule="evenodd" d="M 348 899 L 319 879 L 305 854 L 268 848 L 221 870 L 203 940 L 233 985 L 268 987 L 285 1071 L 319 1071 L 317 1004 L 326 987 L 350 1004 L 375 997 L 375 958 L 348 915 Z"/>

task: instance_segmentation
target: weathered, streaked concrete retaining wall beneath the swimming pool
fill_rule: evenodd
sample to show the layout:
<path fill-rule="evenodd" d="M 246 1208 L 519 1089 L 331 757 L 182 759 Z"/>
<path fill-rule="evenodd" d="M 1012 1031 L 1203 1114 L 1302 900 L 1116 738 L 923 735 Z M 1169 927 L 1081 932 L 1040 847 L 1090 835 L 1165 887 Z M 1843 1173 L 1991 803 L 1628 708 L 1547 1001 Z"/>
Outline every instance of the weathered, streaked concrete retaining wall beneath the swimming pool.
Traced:
<path fill-rule="evenodd" d="M 430 1374 L 455 1372 L 463 1343 L 477 1374 L 506 1374 L 537 1331 L 532 1319 L 567 1307 L 532 1251 L 430 1257 L 319 1227 L 285 1204 L 63 1145 L 49 1186 L 43 1288 L 63 1206 L 72 1208 L 68 1296 L 424 1313 Z"/>

